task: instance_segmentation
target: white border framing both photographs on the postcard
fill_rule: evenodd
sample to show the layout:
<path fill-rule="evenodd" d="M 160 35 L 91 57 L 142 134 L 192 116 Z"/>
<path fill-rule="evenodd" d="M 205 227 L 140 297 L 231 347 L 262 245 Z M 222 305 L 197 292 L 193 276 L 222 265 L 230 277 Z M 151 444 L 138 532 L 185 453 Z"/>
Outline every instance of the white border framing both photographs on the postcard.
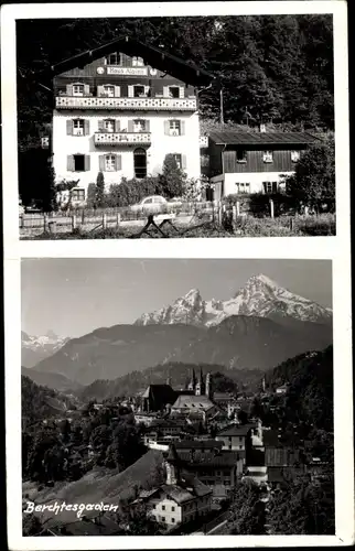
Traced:
<path fill-rule="evenodd" d="M 19 241 L 15 94 L 15 19 L 333 13 L 337 235 L 319 238 Z M 9 548 L 180 549 L 345 545 L 354 542 L 352 417 L 349 144 L 346 2 L 263 1 L 184 3 L 8 4 L 1 8 L 2 159 L 4 227 L 6 408 Z M 261 239 L 261 240 L 260 240 Z M 314 258 L 333 260 L 336 536 L 334 537 L 63 537 L 21 536 L 20 258 Z"/>

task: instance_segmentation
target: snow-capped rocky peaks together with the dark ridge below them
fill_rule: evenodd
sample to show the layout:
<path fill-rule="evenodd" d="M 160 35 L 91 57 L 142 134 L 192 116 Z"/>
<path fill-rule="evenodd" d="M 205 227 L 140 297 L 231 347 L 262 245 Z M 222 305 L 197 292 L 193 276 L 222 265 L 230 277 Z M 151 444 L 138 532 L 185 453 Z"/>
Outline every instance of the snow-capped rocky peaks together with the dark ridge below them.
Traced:
<path fill-rule="evenodd" d="M 39 382 L 39 374 L 52 374 L 63 390 L 71 381 L 77 388 L 169 363 L 265 371 L 330 344 L 329 309 L 258 276 L 228 301 L 206 302 L 192 290 L 132 325 L 101 327 L 69 339 L 39 361 L 35 372 Z"/>

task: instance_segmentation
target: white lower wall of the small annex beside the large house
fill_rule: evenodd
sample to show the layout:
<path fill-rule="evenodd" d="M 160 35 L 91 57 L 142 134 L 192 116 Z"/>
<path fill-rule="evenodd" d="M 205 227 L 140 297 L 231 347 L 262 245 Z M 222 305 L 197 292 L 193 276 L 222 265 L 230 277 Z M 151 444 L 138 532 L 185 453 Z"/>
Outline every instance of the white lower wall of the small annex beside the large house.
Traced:
<path fill-rule="evenodd" d="M 238 193 L 263 193 L 265 182 L 268 183 L 268 193 L 275 193 L 277 188 L 284 188 L 284 176 L 291 174 L 293 172 L 228 172 L 212 177 L 211 182 L 216 186 L 222 186 L 222 196 Z"/>

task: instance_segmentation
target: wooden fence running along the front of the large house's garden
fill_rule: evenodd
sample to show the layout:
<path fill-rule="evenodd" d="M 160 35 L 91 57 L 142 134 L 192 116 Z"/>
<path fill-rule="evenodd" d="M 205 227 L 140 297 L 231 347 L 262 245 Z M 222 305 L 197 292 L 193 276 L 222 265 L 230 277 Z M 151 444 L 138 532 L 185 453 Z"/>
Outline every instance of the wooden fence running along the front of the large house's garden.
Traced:
<path fill-rule="evenodd" d="M 23 236 L 40 235 L 43 233 L 72 233 L 80 228 L 83 231 L 95 231 L 106 228 L 125 228 L 129 226 L 143 226 L 147 223 L 148 210 L 136 210 L 131 207 L 115 208 L 83 208 L 67 212 L 47 214 L 20 215 L 20 234 Z M 273 201 L 269 202 L 269 212 L 263 216 L 243 208 L 243 203 L 225 204 L 223 202 L 204 203 L 176 203 L 164 205 L 159 213 L 163 219 L 164 214 L 173 215 L 174 225 L 189 227 L 207 222 L 216 225 L 228 225 L 237 234 L 247 231 L 258 233 L 260 227 L 270 230 L 305 233 L 306 235 L 334 235 L 335 215 L 298 215 L 295 213 L 275 216 Z M 166 216 L 168 217 L 168 216 Z"/>

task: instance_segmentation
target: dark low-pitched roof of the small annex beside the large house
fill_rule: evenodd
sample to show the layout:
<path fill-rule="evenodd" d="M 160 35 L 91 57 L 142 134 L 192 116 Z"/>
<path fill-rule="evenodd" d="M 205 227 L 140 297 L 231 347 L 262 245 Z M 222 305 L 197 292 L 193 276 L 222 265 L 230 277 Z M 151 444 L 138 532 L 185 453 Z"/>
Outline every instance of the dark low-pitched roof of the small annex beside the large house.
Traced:
<path fill-rule="evenodd" d="M 305 145 L 321 141 L 309 132 L 237 132 L 223 130 L 211 132 L 209 139 L 217 145 Z"/>

